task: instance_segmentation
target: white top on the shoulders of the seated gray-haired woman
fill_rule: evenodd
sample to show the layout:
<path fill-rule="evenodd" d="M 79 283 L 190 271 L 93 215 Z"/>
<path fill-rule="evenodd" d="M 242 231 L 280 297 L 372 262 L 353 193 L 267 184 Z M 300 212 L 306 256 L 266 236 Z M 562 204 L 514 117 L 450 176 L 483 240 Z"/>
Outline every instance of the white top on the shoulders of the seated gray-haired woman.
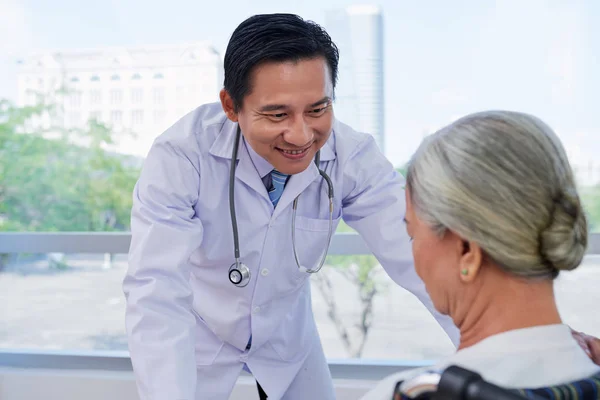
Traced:
<path fill-rule="evenodd" d="M 398 381 L 450 365 L 475 371 L 486 381 L 510 389 L 556 386 L 600 372 L 573 339 L 571 328 L 537 326 L 490 336 L 433 367 L 390 375 L 361 400 L 390 400 Z"/>

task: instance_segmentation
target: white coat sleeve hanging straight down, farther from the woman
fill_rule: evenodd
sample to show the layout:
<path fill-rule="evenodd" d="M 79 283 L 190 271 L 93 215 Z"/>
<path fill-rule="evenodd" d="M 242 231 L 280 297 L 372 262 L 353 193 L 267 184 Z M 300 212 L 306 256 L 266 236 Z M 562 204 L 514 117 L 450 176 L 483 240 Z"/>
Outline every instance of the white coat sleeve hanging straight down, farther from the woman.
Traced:
<path fill-rule="evenodd" d="M 203 227 L 194 213 L 200 177 L 190 155 L 155 142 L 133 193 L 126 329 L 142 400 L 193 400 L 196 362 L 191 253 Z"/>

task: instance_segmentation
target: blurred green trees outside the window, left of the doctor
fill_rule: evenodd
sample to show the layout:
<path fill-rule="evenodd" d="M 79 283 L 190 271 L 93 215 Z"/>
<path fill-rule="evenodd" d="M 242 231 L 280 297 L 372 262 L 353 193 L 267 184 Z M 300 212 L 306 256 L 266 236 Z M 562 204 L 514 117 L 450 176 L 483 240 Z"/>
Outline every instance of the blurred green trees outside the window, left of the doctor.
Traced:
<path fill-rule="evenodd" d="M 40 128 L 37 121 L 57 112 L 48 99 L 57 101 L 0 100 L 0 230 L 128 229 L 139 163 L 105 150 L 113 133 L 97 121 L 79 130 Z"/>

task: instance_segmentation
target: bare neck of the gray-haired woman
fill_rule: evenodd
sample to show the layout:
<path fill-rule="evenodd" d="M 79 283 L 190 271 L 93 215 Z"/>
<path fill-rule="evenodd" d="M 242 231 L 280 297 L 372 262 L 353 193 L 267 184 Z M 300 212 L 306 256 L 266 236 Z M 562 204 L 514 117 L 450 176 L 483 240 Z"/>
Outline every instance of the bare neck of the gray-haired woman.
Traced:
<path fill-rule="evenodd" d="M 459 350 L 513 329 L 562 323 L 552 281 L 528 282 L 501 271 L 492 273 L 502 276 L 486 279 L 470 304 L 453 313 L 460 329 Z"/>

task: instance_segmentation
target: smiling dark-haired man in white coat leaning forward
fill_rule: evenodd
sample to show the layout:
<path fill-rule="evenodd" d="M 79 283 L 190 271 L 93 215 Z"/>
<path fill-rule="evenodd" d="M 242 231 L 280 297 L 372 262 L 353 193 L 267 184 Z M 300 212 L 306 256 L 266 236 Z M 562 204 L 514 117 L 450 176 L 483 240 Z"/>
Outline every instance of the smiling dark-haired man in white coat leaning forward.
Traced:
<path fill-rule="evenodd" d="M 314 23 L 258 15 L 227 47 L 221 102 L 158 137 L 134 190 L 126 326 L 144 400 L 334 399 L 309 278 L 343 218 L 456 343 L 417 277 L 403 180 L 336 121 L 338 51 Z"/>

